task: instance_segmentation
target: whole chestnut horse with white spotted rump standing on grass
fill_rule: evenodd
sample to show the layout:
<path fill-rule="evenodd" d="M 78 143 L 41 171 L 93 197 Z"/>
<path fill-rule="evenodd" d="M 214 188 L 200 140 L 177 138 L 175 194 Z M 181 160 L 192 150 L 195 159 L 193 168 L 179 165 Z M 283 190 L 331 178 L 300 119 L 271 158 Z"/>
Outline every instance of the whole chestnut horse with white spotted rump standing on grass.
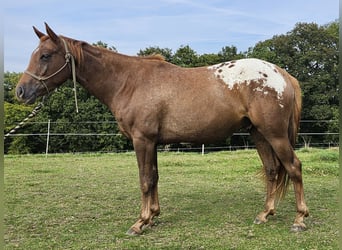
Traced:
<path fill-rule="evenodd" d="M 129 138 L 139 167 L 141 211 L 129 228 L 140 235 L 160 214 L 157 145 L 212 143 L 247 128 L 261 158 L 266 182 L 264 209 L 254 223 L 274 215 L 275 203 L 293 183 L 296 216 L 291 230 L 306 230 L 302 165 L 294 152 L 301 113 L 298 81 L 260 59 L 182 68 L 161 56 L 128 56 L 84 41 L 46 34 L 16 86 L 20 102 L 32 104 L 68 79 L 105 104 Z"/>

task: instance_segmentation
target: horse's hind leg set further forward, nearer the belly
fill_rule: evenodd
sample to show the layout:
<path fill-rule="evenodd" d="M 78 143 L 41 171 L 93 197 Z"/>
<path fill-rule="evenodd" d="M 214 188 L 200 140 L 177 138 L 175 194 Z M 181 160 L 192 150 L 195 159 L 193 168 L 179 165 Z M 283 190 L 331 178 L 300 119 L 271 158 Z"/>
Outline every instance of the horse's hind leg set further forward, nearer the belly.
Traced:
<path fill-rule="evenodd" d="M 269 215 L 275 213 L 275 200 L 277 190 L 277 174 L 280 168 L 280 162 L 277 159 L 271 145 L 266 141 L 264 136 L 255 128 L 251 130 L 252 138 L 255 142 L 258 154 L 261 158 L 266 181 L 266 201 L 265 208 L 261 211 L 254 220 L 255 224 L 267 222 Z"/>

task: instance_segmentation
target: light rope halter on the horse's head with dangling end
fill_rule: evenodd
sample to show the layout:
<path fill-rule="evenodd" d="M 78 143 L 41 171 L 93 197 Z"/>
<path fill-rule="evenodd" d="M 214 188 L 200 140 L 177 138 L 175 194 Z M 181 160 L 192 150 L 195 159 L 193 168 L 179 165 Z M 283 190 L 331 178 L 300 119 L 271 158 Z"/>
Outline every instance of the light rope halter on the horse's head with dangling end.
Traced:
<path fill-rule="evenodd" d="M 71 71 L 72 71 L 72 80 L 74 82 L 74 97 L 75 97 L 75 106 L 76 106 L 76 113 L 78 113 L 78 104 L 77 104 L 77 93 L 76 93 L 76 67 L 75 67 L 75 59 L 73 57 L 73 55 L 70 53 L 69 48 L 67 46 L 67 43 L 65 42 L 65 40 L 63 38 L 61 38 L 61 40 L 64 43 L 64 48 L 65 48 L 65 63 L 64 65 L 58 69 L 55 73 L 49 75 L 49 76 L 37 76 L 34 73 L 25 70 L 24 73 L 28 74 L 29 76 L 31 76 L 32 78 L 34 78 L 35 80 L 38 80 L 47 90 L 47 93 L 50 94 L 49 88 L 47 87 L 45 81 L 54 77 L 55 75 L 59 74 L 69 63 L 71 60 Z"/>

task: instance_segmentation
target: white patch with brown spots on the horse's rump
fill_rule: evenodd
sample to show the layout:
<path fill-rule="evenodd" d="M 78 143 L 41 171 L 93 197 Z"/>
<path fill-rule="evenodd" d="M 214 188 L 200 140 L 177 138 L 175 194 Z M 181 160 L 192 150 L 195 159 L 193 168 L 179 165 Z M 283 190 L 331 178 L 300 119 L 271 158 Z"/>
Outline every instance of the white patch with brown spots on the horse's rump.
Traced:
<path fill-rule="evenodd" d="M 259 59 L 230 61 L 210 66 L 208 69 L 214 70 L 215 76 L 223 80 L 230 89 L 255 81 L 259 85 L 254 91 L 261 91 L 267 95 L 268 90 L 265 87 L 268 87 L 274 89 L 280 99 L 286 87 L 285 79 L 276 66 Z"/>

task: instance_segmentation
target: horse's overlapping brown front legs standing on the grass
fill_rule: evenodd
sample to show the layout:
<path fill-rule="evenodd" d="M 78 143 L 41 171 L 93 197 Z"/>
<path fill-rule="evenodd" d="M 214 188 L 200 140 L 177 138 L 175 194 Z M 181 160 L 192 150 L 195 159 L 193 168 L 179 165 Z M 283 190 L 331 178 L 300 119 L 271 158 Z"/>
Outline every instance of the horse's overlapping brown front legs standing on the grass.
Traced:
<path fill-rule="evenodd" d="M 141 189 L 141 213 L 137 222 L 127 231 L 140 235 L 144 228 L 153 225 L 153 217 L 160 213 L 158 200 L 157 145 L 148 139 L 133 140 L 136 152 Z"/>

